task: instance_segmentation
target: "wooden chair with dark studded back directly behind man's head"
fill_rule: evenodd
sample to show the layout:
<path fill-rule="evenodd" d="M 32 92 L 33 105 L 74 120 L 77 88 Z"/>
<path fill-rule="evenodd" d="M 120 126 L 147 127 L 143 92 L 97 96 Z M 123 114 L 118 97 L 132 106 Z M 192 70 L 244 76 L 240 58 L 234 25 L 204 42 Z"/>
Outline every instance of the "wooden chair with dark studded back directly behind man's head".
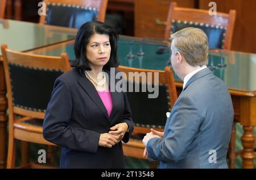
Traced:
<path fill-rule="evenodd" d="M 236 20 L 236 10 L 229 14 L 217 12 L 209 15 L 208 10 L 177 7 L 176 2 L 170 3 L 165 38 L 185 27 L 201 28 L 207 34 L 210 49 L 230 49 Z"/>

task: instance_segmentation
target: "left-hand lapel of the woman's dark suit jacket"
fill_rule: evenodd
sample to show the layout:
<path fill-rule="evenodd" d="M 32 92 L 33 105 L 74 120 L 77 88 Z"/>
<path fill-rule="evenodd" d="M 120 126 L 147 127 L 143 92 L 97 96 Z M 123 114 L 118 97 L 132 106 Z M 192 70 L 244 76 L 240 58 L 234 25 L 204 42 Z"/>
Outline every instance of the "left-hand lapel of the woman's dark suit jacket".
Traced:
<path fill-rule="evenodd" d="M 107 112 L 103 102 L 101 101 L 100 95 L 98 95 L 98 92 L 95 89 L 95 87 L 93 86 L 92 82 L 90 82 L 89 79 L 85 77 L 84 73 L 82 73 L 82 76 L 80 76 L 78 82 L 82 86 L 82 89 L 84 89 L 86 91 L 86 93 L 89 95 L 89 97 L 92 99 L 92 101 L 94 103 L 96 103 L 98 108 L 100 108 L 100 110 L 103 112 L 103 114 L 109 120 L 108 112 Z"/>

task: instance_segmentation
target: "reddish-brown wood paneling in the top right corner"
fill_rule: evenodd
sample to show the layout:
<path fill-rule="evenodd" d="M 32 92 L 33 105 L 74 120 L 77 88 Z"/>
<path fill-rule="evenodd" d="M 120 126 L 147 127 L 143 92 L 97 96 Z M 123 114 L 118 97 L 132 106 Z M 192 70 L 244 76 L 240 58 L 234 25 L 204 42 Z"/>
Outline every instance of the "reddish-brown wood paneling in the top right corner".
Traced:
<path fill-rule="evenodd" d="M 209 9 L 212 0 L 199 0 L 200 9 Z M 237 11 L 231 49 L 234 51 L 256 53 L 256 1 L 255 0 L 214 0 L 217 11 Z"/>

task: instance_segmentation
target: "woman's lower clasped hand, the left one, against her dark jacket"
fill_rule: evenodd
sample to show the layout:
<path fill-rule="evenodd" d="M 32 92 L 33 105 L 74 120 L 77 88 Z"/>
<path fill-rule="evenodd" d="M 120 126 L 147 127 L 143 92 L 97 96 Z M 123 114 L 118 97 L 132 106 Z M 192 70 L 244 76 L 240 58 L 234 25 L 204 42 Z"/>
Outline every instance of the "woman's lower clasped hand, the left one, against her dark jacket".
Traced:
<path fill-rule="evenodd" d="M 109 133 L 102 133 L 100 140 L 98 141 L 99 146 L 112 148 L 113 145 L 117 144 L 119 137 L 117 135 L 110 135 Z"/>

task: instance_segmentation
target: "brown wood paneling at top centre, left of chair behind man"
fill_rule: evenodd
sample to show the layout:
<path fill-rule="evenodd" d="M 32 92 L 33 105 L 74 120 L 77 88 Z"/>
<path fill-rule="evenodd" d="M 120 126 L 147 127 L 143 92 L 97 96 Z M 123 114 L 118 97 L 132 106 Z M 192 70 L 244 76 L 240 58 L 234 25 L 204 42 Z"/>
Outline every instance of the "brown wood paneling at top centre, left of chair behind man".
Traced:
<path fill-rule="evenodd" d="M 166 25 L 156 24 L 156 19 L 166 22 L 170 2 L 174 0 L 135 0 L 134 35 L 137 37 L 164 38 Z M 179 7 L 196 7 L 194 0 L 175 0 Z"/>

